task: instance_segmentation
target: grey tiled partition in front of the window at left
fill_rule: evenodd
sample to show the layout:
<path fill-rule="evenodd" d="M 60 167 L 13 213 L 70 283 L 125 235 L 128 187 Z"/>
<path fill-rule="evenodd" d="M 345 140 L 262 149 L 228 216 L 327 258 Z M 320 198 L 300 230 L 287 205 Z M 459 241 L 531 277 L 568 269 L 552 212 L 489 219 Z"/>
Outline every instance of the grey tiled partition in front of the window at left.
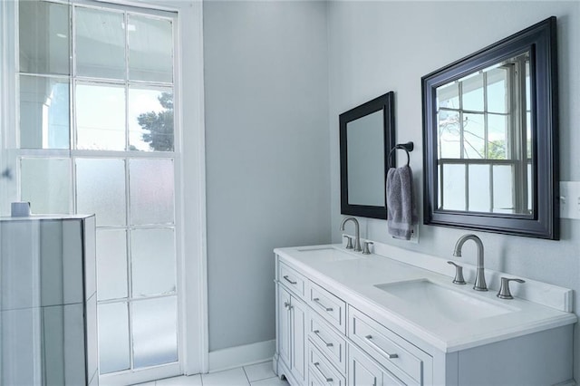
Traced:
<path fill-rule="evenodd" d="M 95 217 L 0 218 L 0 384 L 99 384 Z"/>

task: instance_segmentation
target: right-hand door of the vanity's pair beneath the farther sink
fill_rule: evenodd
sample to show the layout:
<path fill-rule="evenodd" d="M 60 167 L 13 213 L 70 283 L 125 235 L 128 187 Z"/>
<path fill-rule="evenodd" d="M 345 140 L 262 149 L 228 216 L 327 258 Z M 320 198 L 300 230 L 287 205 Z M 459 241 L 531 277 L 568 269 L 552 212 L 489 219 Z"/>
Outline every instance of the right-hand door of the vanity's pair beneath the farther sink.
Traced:
<path fill-rule="evenodd" d="M 292 323 L 292 372 L 295 378 L 304 383 L 306 380 L 306 305 L 291 297 L 290 321 Z"/>

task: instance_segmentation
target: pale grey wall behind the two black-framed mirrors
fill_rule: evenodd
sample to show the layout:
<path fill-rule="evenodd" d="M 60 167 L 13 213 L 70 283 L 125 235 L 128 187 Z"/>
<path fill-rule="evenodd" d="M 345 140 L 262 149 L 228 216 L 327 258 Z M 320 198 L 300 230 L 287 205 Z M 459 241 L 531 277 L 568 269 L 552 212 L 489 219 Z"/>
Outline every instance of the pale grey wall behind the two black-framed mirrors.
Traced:
<path fill-rule="evenodd" d="M 422 202 L 421 76 L 510 34 L 558 17 L 560 169 L 562 180 L 580 180 L 579 2 L 331 2 L 329 31 L 329 130 L 333 241 L 340 242 L 338 114 L 384 92 L 395 92 L 397 141 L 415 142 L 411 153 L 418 203 Z M 404 154 L 399 155 L 400 161 Z M 418 245 L 387 236 L 386 222 L 361 219 L 362 236 L 441 258 L 465 230 L 420 226 Z M 422 219 L 421 219 L 422 221 Z M 546 241 L 478 232 L 486 266 L 512 275 L 572 288 L 580 310 L 580 221 L 561 220 L 561 240 Z M 472 248 L 472 249 L 468 249 Z M 463 260 L 475 264 L 466 245 Z M 450 268 L 452 269 L 452 267 Z M 580 335 L 575 328 L 575 379 L 580 381 Z"/>

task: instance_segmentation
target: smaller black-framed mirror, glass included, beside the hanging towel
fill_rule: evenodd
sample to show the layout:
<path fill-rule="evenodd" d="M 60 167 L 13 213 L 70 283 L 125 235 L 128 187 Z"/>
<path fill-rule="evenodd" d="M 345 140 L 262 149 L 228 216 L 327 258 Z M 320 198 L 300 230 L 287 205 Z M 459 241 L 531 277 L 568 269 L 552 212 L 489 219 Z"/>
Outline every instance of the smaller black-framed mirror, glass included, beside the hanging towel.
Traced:
<path fill-rule="evenodd" d="M 394 92 L 343 112 L 339 121 L 341 213 L 386 219 L 385 179 L 395 144 Z"/>

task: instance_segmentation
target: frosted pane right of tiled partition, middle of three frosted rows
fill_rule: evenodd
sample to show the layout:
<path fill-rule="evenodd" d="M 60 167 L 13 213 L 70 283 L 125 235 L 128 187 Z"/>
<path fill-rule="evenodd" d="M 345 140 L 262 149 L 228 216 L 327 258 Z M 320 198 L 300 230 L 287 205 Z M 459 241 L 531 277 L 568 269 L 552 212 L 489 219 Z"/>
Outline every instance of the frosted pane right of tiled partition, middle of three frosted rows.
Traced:
<path fill-rule="evenodd" d="M 97 298 L 127 297 L 127 231 L 97 230 Z"/>

